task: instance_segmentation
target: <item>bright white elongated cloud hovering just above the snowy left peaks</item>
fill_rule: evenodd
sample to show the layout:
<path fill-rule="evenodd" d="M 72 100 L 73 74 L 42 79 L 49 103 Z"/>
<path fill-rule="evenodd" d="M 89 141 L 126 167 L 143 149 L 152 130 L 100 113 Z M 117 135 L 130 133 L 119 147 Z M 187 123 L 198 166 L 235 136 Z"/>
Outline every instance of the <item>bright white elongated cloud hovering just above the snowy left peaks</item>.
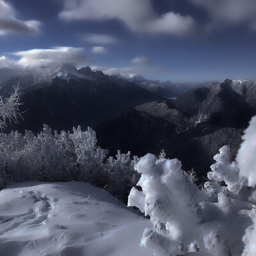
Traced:
<path fill-rule="evenodd" d="M 32 49 L 29 51 L 20 51 L 12 53 L 19 60 L 0 57 L 1 67 L 17 67 L 27 65 L 42 65 L 48 63 L 70 63 L 76 67 L 86 65 L 86 56 L 84 48 L 73 47 L 55 47 L 53 49 Z"/>

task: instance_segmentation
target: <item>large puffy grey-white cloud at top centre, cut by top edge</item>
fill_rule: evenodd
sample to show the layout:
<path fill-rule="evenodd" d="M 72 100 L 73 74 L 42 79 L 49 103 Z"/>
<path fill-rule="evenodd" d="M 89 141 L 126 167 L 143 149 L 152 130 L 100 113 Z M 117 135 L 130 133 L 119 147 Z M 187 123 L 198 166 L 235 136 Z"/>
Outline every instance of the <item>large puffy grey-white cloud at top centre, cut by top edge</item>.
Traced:
<path fill-rule="evenodd" d="M 194 27 L 191 17 L 168 12 L 157 15 L 150 0 L 63 0 L 59 13 L 66 20 L 118 19 L 136 33 L 186 35 Z"/>

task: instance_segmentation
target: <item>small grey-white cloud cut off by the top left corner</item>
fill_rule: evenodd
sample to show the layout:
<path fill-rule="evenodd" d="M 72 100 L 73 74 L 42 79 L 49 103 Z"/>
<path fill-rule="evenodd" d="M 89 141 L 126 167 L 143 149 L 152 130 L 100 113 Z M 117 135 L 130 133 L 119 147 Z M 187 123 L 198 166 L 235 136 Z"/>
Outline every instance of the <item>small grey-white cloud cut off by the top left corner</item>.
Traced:
<path fill-rule="evenodd" d="M 0 35 L 8 33 L 37 33 L 41 22 L 38 20 L 20 20 L 15 17 L 13 7 L 0 0 Z"/>

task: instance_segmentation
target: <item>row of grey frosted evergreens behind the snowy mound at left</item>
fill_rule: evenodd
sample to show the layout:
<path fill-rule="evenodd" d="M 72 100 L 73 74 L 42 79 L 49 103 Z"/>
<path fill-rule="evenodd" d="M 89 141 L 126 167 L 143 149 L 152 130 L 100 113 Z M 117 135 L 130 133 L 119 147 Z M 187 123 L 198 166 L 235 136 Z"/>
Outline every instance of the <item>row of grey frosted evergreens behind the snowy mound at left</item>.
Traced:
<path fill-rule="evenodd" d="M 0 133 L 0 173 L 4 180 L 70 181 L 84 180 L 106 188 L 115 196 L 127 198 L 139 175 L 134 170 L 138 157 L 131 152 L 116 159 L 107 158 L 108 150 L 97 147 L 96 133 L 88 127 L 73 132 L 52 133 L 48 125 L 37 136 Z"/>

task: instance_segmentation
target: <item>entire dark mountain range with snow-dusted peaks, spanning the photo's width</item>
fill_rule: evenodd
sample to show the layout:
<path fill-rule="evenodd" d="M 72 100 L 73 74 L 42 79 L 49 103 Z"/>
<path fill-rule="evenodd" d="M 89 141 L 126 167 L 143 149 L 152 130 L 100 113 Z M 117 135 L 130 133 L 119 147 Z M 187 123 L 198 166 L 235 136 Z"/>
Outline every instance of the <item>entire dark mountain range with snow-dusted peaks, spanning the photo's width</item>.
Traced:
<path fill-rule="evenodd" d="M 256 115 L 252 80 L 177 84 L 108 76 L 68 64 L 19 73 L 0 68 L 0 94 L 17 85 L 23 92 L 24 122 L 6 132 L 40 132 L 44 123 L 58 131 L 90 125 L 111 155 L 118 149 L 138 156 L 159 154 L 164 148 L 169 158 L 182 161 L 184 170 L 195 168 L 199 175 L 207 172 L 222 145 L 230 145 L 236 156 L 243 129 Z"/>

